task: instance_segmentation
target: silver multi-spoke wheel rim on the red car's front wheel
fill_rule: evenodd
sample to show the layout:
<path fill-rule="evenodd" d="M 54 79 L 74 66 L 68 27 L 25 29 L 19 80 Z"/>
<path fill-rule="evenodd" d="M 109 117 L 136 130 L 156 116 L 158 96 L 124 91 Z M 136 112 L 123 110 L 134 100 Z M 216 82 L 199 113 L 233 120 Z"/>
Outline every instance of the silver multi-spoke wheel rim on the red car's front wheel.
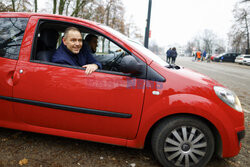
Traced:
<path fill-rule="evenodd" d="M 182 126 L 166 137 L 164 153 L 175 166 L 194 166 L 206 155 L 207 145 L 205 134 L 198 128 Z"/>

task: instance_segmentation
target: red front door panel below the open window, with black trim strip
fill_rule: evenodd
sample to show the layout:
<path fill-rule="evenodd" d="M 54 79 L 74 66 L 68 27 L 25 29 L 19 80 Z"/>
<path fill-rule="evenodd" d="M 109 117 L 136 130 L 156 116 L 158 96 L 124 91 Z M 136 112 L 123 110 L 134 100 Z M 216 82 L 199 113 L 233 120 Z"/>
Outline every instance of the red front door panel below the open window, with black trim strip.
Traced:
<path fill-rule="evenodd" d="M 86 75 L 80 67 L 26 58 L 18 62 L 16 72 L 14 108 L 25 123 L 109 137 L 135 137 L 144 79 L 101 70 Z M 135 89 L 136 84 L 141 87 Z"/>

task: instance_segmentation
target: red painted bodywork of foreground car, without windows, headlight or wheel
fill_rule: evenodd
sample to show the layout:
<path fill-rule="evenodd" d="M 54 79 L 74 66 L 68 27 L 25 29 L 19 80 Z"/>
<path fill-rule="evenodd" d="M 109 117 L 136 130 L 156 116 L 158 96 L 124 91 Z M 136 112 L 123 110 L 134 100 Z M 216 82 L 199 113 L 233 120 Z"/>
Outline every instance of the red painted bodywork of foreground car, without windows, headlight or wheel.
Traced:
<path fill-rule="evenodd" d="M 188 69 L 166 68 L 91 21 L 30 13 L 1 13 L 1 17 L 30 18 L 18 62 L 0 57 L 0 96 L 5 97 L 0 105 L 8 111 L 0 113 L 1 127 L 143 148 L 159 121 L 186 114 L 216 127 L 223 157 L 238 154 L 237 132 L 245 129 L 244 114 L 216 96 L 213 86 L 222 86 L 216 81 Z M 141 59 L 165 82 L 103 71 L 86 75 L 80 68 L 30 61 L 39 19 L 89 27 Z"/>

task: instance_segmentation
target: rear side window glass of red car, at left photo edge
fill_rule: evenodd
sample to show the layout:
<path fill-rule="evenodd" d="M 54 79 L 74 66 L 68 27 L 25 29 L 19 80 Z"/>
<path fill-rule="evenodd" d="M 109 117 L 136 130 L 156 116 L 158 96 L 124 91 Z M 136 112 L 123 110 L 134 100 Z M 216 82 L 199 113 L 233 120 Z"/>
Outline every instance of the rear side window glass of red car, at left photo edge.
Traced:
<path fill-rule="evenodd" d="M 28 18 L 0 18 L 0 57 L 18 59 Z"/>

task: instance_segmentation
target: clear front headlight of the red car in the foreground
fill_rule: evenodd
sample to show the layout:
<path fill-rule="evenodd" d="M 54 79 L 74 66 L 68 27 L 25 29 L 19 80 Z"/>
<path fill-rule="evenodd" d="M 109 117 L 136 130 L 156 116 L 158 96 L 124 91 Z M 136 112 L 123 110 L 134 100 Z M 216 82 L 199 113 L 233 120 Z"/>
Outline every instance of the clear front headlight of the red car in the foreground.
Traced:
<path fill-rule="evenodd" d="M 223 102 L 225 102 L 226 104 L 228 104 L 230 107 L 234 108 L 235 110 L 242 112 L 240 100 L 233 91 L 220 87 L 220 86 L 214 86 L 214 91 L 216 95 Z"/>

